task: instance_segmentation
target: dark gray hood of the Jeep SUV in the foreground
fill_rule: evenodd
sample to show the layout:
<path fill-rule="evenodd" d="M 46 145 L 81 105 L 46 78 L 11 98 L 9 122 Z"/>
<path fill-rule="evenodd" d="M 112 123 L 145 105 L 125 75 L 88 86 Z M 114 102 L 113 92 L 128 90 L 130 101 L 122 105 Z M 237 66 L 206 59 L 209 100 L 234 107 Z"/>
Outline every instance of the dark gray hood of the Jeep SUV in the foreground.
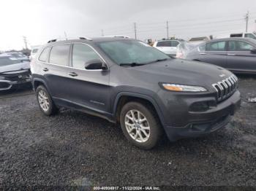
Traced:
<path fill-rule="evenodd" d="M 200 85 L 209 87 L 213 83 L 230 77 L 232 73 L 209 63 L 186 61 L 173 58 L 171 60 L 151 63 L 129 68 L 136 77 L 147 81 L 169 82 L 181 85 Z M 131 72 L 131 75 L 133 76 Z M 145 74 L 145 75 L 143 75 Z M 133 76 L 133 77 L 135 77 Z M 144 78 L 145 77 L 145 78 Z"/>

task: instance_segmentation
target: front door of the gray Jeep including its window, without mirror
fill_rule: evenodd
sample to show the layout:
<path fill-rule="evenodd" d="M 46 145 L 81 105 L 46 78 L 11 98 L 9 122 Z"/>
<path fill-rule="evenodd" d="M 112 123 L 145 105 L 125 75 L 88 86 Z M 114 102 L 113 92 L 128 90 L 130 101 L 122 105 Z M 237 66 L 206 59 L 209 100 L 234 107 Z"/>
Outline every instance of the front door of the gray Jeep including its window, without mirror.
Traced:
<path fill-rule="evenodd" d="M 99 112 L 110 112 L 109 70 L 86 70 L 85 63 L 102 58 L 86 44 L 72 45 L 72 67 L 68 69 L 68 99 Z M 75 74 L 75 75 L 74 75 Z"/>

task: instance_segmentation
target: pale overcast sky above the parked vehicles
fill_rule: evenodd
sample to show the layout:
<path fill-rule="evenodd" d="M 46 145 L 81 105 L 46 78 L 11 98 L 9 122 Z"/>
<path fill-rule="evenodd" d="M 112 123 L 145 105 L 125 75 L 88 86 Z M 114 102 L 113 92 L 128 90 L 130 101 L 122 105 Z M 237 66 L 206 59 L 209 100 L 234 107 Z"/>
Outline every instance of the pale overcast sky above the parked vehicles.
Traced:
<path fill-rule="evenodd" d="M 140 40 L 227 37 L 256 31 L 255 0 L 0 0 L 0 50 L 20 50 L 50 39 L 127 35 Z"/>

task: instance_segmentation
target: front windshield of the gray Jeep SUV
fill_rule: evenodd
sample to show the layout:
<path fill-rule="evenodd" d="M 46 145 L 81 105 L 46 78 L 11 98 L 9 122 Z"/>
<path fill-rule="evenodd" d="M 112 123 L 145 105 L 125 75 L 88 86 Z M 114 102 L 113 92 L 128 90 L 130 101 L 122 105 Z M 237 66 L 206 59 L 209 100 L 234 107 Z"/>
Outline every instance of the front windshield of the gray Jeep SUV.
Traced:
<path fill-rule="evenodd" d="M 126 63 L 146 64 L 170 59 L 165 53 L 136 40 L 99 42 L 97 45 L 118 65 L 125 65 Z"/>

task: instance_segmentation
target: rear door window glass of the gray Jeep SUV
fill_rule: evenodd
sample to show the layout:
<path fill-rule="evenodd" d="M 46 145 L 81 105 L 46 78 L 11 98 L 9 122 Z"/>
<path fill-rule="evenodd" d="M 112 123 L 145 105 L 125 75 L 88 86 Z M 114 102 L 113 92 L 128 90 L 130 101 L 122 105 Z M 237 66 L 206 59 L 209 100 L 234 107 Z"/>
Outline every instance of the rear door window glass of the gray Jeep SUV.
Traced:
<path fill-rule="evenodd" d="M 52 50 L 50 51 L 49 62 L 60 66 L 68 66 L 69 47 L 70 44 L 60 44 L 53 46 Z"/>

